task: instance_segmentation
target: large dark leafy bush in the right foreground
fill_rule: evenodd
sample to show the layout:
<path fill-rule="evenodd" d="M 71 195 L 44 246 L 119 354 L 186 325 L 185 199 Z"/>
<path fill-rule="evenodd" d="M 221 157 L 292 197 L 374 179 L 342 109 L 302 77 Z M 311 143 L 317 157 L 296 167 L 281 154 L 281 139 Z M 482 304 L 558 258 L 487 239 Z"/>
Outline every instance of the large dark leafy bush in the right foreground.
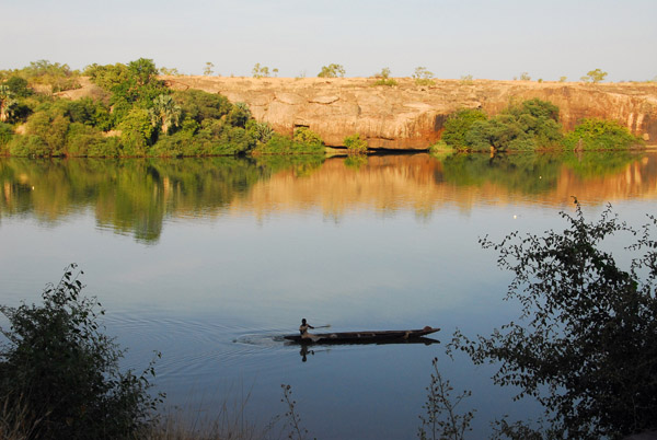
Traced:
<path fill-rule="evenodd" d="M 518 232 L 499 253 L 514 274 L 507 300 L 521 304 L 520 323 L 488 337 L 463 338 L 475 363 L 502 362 L 500 385 L 535 397 L 564 438 L 619 438 L 657 428 L 657 218 L 635 230 L 611 207 L 596 223 L 562 212 L 568 227 L 543 236 Z M 606 251 L 610 236 L 638 240 L 626 247 L 627 269 Z M 462 337 L 462 335 L 458 335 Z M 561 438 L 560 437 L 560 438 Z"/>

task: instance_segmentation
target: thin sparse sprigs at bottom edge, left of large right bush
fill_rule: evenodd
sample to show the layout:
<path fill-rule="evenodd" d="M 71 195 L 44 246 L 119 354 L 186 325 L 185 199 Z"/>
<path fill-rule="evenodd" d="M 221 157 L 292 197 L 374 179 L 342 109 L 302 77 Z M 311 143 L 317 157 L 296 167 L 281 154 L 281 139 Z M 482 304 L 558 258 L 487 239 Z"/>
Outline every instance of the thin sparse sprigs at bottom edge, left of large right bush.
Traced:
<path fill-rule="evenodd" d="M 464 391 L 458 397 L 452 398 L 451 392 L 454 389 L 448 380 L 442 379 L 438 370 L 438 358 L 434 358 L 433 364 L 434 372 L 431 373 L 431 384 L 427 387 L 427 403 L 423 406 L 427 413 L 426 417 L 419 416 L 422 427 L 417 437 L 420 440 L 464 440 L 465 431 L 472 430 L 470 422 L 474 417 L 474 412 L 461 415 L 457 413 L 457 406 L 472 393 Z"/>

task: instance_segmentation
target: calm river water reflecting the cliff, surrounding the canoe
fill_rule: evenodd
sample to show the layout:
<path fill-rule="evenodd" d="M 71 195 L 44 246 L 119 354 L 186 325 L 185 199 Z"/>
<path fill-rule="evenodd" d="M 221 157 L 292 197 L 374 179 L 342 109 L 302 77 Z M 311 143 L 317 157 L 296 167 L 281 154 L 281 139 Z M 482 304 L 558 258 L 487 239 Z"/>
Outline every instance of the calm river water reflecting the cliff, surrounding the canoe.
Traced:
<path fill-rule="evenodd" d="M 280 384 L 320 439 L 416 438 L 431 359 L 473 395 L 472 438 L 531 401 L 445 344 L 316 347 L 279 336 L 301 317 L 334 331 L 459 327 L 516 317 L 508 274 L 477 239 L 590 220 L 607 202 L 641 224 L 655 211 L 657 153 L 426 154 L 264 160 L 0 159 L 0 302 L 37 301 L 67 264 L 107 310 L 108 333 L 188 417 L 232 413 L 262 426 L 286 412 Z M 622 243 L 612 245 L 621 246 Z M 245 402 L 245 408 L 240 405 Z"/>

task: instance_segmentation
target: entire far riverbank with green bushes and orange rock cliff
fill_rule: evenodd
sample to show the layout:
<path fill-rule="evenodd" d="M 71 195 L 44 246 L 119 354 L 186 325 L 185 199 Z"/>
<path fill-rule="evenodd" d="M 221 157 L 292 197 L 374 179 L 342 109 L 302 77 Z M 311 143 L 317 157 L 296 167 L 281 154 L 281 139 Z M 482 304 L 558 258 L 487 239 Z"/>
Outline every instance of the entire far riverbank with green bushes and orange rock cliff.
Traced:
<path fill-rule="evenodd" d="M 392 79 L 387 69 L 362 79 L 335 68 L 284 79 L 263 69 L 164 76 L 140 58 L 82 72 L 45 60 L 0 71 L 0 155 L 592 151 L 645 148 L 657 132 L 650 82 Z"/>

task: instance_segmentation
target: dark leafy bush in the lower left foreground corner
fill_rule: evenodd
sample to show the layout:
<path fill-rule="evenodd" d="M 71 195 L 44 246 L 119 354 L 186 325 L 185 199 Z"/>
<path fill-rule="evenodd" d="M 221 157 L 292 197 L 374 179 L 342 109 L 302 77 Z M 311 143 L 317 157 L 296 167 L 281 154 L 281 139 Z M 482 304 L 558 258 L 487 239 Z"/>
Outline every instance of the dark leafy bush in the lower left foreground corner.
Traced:
<path fill-rule="evenodd" d="M 39 420 L 35 438 L 135 438 L 161 402 L 148 394 L 153 366 L 140 375 L 119 371 L 124 352 L 103 334 L 104 311 L 81 294 L 74 270 L 46 286 L 42 305 L 0 306 L 11 323 L 2 329 L 0 395 Z"/>

